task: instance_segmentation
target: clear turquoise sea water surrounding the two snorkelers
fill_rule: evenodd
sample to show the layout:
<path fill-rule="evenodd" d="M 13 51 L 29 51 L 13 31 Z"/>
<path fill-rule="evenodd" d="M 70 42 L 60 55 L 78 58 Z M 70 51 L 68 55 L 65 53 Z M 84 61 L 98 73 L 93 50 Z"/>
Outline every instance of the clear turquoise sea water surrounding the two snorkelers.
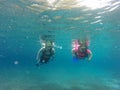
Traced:
<path fill-rule="evenodd" d="M 96 9 L 64 1 L 56 9 L 42 0 L 0 1 L 0 90 L 120 90 L 120 1 Z M 42 35 L 58 47 L 55 60 L 36 67 Z M 72 40 L 86 37 L 93 58 L 74 62 Z"/>

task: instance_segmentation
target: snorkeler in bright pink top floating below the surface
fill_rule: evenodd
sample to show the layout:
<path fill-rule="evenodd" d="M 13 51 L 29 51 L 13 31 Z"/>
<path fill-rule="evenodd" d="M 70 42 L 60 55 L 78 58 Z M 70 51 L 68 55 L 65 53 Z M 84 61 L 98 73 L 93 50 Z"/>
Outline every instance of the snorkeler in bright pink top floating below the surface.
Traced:
<path fill-rule="evenodd" d="M 87 40 L 75 40 L 73 42 L 73 57 L 76 59 L 85 59 L 88 58 L 88 61 L 92 58 L 92 52 L 88 49 Z"/>

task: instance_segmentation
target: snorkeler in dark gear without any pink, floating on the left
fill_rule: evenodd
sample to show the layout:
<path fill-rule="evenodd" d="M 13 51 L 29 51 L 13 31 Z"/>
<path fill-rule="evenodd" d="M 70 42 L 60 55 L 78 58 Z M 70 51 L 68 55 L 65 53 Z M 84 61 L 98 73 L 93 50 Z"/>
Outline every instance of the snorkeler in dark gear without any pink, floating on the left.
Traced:
<path fill-rule="evenodd" d="M 54 54 L 53 42 L 45 41 L 44 46 L 38 51 L 36 66 L 48 63 L 54 58 Z"/>

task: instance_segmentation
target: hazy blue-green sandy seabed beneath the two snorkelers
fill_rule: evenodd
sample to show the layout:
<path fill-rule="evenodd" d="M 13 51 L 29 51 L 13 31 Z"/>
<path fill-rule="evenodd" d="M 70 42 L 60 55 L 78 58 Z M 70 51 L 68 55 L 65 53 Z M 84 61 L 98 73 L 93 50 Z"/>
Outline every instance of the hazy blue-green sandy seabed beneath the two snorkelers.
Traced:
<path fill-rule="evenodd" d="M 119 76 L 90 67 L 16 67 L 0 72 L 0 90 L 120 90 Z"/>

